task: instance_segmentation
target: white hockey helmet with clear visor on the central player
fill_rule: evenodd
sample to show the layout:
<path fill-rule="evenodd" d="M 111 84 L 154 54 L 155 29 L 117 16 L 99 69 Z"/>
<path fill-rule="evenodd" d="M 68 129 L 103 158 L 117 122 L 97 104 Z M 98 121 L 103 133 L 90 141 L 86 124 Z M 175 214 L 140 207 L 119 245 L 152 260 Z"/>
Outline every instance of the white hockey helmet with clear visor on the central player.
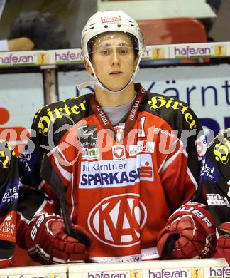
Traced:
<path fill-rule="evenodd" d="M 138 46 L 136 46 L 138 50 L 138 63 L 136 66 L 136 70 L 133 72 L 133 76 L 131 77 L 131 80 L 128 82 L 128 84 L 126 84 L 126 86 L 120 91 L 111 91 L 99 81 L 92 66 L 92 62 L 89 59 L 89 42 L 93 38 L 96 38 L 99 34 L 112 31 L 124 32 L 127 33 L 127 35 L 131 34 L 136 38 L 136 41 L 138 42 Z M 89 66 L 92 68 L 92 71 L 94 73 L 94 76 L 91 76 L 93 78 L 92 82 L 96 83 L 97 86 L 100 86 L 110 93 L 120 93 L 121 91 L 124 91 L 124 89 L 127 88 L 128 85 L 133 81 L 133 78 L 136 76 L 136 73 L 138 71 L 138 66 L 144 51 L 145 43 L 143 40 L 141 29 L 138 26 L 137 22 L 130 16 L 125 14 L 124 11 L 98 11 L 96 14 L 89 18 L 82 31 L 82 54 L 85 61 L 89 63 Z M 83 86 L 81 85 L 77 86 L 77 88 L 82 87 Z"/>

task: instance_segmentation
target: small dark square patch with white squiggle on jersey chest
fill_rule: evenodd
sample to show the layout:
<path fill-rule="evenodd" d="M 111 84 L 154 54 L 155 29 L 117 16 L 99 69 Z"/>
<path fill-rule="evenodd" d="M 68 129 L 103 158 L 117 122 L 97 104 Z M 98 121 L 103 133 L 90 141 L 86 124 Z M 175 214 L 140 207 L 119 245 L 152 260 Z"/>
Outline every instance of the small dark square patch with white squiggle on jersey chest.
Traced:
<path fill-rule="evenodd" d="M 80 125 L 77 135 L 81 147 L 94 147 L 97 141 L 97 125 Z"/>

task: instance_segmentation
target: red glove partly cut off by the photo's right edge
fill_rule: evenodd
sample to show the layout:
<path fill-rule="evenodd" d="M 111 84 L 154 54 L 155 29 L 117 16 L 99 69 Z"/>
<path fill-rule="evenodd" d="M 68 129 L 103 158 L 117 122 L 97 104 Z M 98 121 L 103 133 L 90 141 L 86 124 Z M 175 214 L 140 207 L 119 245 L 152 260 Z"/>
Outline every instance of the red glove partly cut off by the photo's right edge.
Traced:
<path fill-rule="evenodd" d="M 222 223 L 219 229 L 226 232 L 226 234 L 221 235 L 217 240 L 217 251 L 230 264 L 230 222 Z"/>

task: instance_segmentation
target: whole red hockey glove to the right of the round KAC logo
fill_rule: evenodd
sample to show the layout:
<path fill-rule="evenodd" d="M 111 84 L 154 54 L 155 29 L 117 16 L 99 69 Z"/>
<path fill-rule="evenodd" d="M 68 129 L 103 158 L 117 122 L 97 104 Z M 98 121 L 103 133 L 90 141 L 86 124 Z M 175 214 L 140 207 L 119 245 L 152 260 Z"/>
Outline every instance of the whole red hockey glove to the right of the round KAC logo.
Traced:
<path fill-rule="evenodd" d="M 205 205 L 187 202 L 168 219 L 158 235 L 162 259 L 208 258 L 215 251 L 217 237 Z"/>

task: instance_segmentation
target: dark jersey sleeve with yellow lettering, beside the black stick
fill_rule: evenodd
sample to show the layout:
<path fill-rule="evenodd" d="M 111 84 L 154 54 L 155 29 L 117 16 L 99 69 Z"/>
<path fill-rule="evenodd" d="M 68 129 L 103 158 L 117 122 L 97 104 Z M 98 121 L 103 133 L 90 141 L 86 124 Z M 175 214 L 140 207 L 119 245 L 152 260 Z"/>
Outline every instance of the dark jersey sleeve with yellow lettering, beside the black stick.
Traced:
<path fill-rule="evenodd" d="M 28 221 L 36 213 L 43 211 L 44 207 L 49 207 L 51 211 L 48 212 L 60 214 L 55 192 L 40 177 L 40 168 L 43 155 L 55 150 L 55 146 L 65 134 L 69 123 L 64 116 L 61 118 L 59 114 L 56 116 L 49 114 L 50 109 L 50 106 L 45 106 L 35 114 L 31 126 L 31 137 L 18 158 L 22 183 L 18 210 L 21 212 L 21 219 Z M 30 200 L 27 195 L 31 196 Z M 53 208 L 48 203 L 52 203 Z"/>

